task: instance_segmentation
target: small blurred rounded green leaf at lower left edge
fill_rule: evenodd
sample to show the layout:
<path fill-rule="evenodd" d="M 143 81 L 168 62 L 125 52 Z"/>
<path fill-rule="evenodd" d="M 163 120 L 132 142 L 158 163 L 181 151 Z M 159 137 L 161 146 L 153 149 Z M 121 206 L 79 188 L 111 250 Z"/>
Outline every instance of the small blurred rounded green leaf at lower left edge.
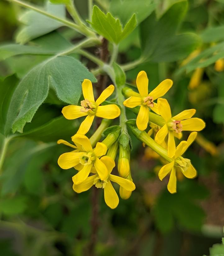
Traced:
<path fill-rule="evenodd" d="M 0 201 L 0 211 L 5 215 L 17 215 L 24 212 L 26 200 L 23 196 L 2 199 Z"/>

